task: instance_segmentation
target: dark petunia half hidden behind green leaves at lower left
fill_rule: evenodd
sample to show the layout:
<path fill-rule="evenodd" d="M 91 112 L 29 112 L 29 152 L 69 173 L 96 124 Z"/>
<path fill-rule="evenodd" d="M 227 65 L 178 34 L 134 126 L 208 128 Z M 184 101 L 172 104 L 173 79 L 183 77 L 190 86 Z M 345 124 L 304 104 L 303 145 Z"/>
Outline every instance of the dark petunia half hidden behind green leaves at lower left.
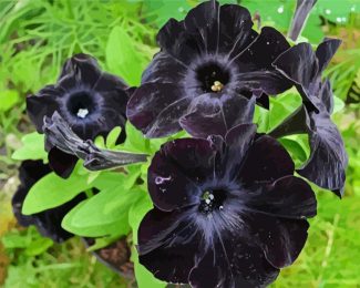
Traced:
<path fill-rule="evenodd" d="M 19 169 L 20 185 L 12 198 L 12 209 L 21 226 L 28 227 L 34 225 L 41 235 L 61 243 L 73 236 L 73 234 L 61 227 L 62 218 L 68 212 L 86 198 L 85 194 L 80 194 L 72 200 L 53 209 L 33 215 L 23 215 L 21 213 L 23 202 L 31 186 L 50 172 L 51 168 L 49 165 L 43 164 L 42 161 L 24 161 Z"/>

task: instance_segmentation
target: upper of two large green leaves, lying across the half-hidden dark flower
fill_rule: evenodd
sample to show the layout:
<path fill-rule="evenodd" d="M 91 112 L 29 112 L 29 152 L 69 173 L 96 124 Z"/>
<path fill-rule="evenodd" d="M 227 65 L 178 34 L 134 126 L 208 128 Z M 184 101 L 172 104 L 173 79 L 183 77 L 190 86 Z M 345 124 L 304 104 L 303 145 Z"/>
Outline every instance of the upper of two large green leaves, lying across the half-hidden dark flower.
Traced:
<path fill-rule="evenodd" d="M 76 173 L 72 173 L 68 179 L 50 173 L 31 187 L 22 213 L 30 215 L 60 206 L 89 188 L 86 177 L 80 177 Z"/>

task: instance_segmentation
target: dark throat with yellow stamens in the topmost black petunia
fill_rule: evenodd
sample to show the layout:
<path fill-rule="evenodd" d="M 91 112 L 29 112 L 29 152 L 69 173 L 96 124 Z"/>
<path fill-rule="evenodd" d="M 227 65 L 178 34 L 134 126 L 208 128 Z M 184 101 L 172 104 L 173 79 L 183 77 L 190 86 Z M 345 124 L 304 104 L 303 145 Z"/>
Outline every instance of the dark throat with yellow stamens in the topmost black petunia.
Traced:
<path fill-rule="evenodd" d="M 207 63 L 196 71 L 197 80 L 205 93 L 220 92 L 229 82 L 229 73 L 217 63 Z"/>

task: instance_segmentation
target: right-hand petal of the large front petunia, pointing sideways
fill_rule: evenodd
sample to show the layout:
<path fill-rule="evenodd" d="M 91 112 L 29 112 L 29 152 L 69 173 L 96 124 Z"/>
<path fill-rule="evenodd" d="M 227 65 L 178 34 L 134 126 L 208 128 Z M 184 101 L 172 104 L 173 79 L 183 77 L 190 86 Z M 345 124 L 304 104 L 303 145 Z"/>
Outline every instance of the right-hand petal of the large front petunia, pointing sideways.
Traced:
<path fill-rule="evenodd" d="M 317 214 L 317 200 L 310 185 L 292 175 L 271 184 L 254 184 L 248 188 L 246 206 L 276 217 L 302 219 Z"/>

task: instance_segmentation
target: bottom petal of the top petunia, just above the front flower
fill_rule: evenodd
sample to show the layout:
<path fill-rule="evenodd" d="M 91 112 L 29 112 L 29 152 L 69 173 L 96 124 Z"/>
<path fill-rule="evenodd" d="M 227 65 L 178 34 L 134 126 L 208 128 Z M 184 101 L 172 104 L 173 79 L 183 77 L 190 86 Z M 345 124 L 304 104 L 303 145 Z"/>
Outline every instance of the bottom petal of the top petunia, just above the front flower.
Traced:
<path fill-rule="evenodd" d="M 225 134 L 234 126 L 253 122 L 255 99 L 234 93 L 208 93 L 197 96 L 188 114 L 179 120 L 184 130 L 195 137 Z"/>

